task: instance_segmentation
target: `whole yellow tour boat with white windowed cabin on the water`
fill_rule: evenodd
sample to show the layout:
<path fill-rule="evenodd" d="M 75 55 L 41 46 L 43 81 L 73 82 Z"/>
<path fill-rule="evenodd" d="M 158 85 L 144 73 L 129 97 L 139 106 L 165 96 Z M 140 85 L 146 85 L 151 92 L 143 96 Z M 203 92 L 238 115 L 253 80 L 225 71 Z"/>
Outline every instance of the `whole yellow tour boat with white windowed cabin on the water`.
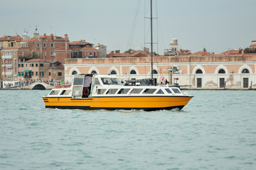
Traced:
<path fill-rule="evenodd" d="M 46 108 L 157 111 L 181 109 L 192 97 L 173 86 L 124 86 L 114 76 L 76 74 L 72 86 L 51 90 L 43 101 Z"/>

